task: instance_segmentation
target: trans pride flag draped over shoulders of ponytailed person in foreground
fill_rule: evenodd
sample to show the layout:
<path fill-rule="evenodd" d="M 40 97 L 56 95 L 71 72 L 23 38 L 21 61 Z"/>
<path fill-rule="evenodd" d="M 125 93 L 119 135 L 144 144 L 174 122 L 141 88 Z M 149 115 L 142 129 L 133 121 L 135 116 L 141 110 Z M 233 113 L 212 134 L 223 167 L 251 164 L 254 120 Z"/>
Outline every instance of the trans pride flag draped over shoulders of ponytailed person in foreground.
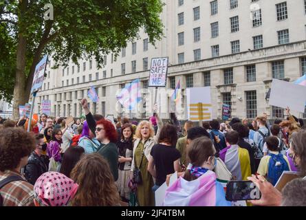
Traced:
<path fill-rule="evenodd" d="M 166 190 L 163 206 L 231 206 L 223 186 L 211 170 L 193 181 L 182 177 Z"/>

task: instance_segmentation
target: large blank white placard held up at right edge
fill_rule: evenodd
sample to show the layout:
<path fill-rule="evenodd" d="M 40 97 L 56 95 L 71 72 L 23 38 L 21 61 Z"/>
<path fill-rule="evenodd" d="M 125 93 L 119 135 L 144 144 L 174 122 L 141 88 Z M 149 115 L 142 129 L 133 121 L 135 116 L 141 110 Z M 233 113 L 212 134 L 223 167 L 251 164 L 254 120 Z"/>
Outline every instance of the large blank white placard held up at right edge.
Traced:
<path fill-rule="evenodd" d="M 283 80 L 272 80 L 269 104 L 275 107 L 304 112 L 306 102 L 306 87 L 294 85 Z"/>

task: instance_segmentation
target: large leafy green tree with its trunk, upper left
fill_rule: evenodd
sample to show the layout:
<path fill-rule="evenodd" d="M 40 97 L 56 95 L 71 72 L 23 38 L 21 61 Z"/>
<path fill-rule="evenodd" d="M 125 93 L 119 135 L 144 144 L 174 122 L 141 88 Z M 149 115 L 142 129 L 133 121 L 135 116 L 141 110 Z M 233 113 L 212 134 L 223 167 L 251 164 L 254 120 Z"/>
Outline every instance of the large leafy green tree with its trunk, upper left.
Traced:
<path fill-rule="evenodd" d="M 53 20 L 44 17 L 47 3 Z M 14 95 L 13 118 L 28 102 L 34 69 L 44 54 L 56 61 L 54 67 L 91 56 L 102 64 L 104 54 L 118 54 L 137 39 L 140 28 L 154 45 L 162 37 L 162 6 L 162 0 L 1 0 L 0 96 L 11 100 Z"/>

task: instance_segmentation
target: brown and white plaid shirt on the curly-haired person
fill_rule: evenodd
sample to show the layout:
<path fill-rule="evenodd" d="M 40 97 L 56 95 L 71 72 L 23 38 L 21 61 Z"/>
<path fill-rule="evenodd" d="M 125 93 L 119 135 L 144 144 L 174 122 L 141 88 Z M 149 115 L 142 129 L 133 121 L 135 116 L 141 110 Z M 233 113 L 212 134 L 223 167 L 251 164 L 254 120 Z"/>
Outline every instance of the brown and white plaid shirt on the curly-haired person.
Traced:
<path fill-rule="evenodd" d="M 19 175 L 20 173 L 12 170 L 0 172 L 0 181 L 10 175 Z M 23 177 L 23 179 L 25 179 Z M 3 198 L 3 206 L 34 206 L 34 186 L 28 181 L 12 181 L 0 189 Z"/>

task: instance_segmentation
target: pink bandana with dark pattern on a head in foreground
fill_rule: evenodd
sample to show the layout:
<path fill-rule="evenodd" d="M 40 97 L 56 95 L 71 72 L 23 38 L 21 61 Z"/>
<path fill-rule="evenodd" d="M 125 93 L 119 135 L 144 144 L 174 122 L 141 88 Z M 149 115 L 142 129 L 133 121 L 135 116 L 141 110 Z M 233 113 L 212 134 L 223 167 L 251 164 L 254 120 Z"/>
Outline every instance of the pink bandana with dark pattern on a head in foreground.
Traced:
<path fill-rule="evenodd" d="M 57 172 L 44 173 L 34 185 L 36 199 L 45 206 L 66 206 L 77 190 L 78 184 Z"/>

